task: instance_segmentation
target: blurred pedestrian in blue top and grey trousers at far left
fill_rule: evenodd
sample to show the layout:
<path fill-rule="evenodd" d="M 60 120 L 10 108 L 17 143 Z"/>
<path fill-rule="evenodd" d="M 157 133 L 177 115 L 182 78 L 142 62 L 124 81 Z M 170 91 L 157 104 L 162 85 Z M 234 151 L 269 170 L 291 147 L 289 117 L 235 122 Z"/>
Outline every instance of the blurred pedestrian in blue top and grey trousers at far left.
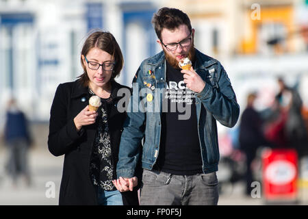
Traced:
<path fill-rule="evenodd" d="M 12 183 L 17 185 L 18 177 L 24 178 L 26 185 L 31 185 L 28 151 L 31 146 L 31 135 L 25 114 L 18 108 L 16 99 L 8 101 L 4 140 L 8 146 L 9 157 L 6 170 Z"/>

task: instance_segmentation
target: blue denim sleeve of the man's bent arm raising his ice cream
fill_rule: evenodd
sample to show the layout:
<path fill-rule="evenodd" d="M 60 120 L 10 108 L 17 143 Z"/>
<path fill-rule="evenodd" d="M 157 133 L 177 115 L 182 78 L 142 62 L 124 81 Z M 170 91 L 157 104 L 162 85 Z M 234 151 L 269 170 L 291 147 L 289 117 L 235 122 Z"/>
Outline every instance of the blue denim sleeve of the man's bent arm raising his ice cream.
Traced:
<path fill-rule="evenodd" d="M 222 125 L 233 127 L 238 121 L 240 106 L 236 101 L 231 81 L 222 65 L 218 63 L 215 70 L 218 70 L 219 88 L 213 88 L 210 83 L 206 83 L 205 88 L 196 97 Z"/>

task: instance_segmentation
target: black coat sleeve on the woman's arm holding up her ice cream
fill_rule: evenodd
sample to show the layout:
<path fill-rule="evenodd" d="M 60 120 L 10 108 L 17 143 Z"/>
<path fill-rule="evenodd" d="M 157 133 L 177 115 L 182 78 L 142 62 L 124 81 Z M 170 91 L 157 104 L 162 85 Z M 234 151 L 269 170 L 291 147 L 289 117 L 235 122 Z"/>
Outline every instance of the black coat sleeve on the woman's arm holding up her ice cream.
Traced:
<path fill-rule="evenodd" d="M 68 120 L 67 95 L 68 92 L 60 84 L 51 105 L 48 149 L 55 156 L 68 153 L 73 148 L 73 143 L 84 133 L 84 129 L 77 132 L 73 118 Z"/>

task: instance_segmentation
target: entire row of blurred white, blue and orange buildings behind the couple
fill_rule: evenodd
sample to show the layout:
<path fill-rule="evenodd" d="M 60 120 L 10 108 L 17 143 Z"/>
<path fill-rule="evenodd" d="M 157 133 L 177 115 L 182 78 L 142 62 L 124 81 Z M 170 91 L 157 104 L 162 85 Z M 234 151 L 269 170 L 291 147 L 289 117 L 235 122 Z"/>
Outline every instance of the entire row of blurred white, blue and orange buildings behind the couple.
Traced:
<path fill-rule="evenodd" d="M 307 0 L 0 0 L 1 105 L 14 94 L 31 120 L 49 120 L 55 89 L 81 75 L 81 47 L 95 28 L 118 40 L 118 81 L 130 85 L 140 62 L 160 50 L 151 18 L 163 6 L 188 13 L 196 47 L 222 62 L 242 107 L 251 89 L 261 93 L 259 107 L 269 105 L 277 75 L 297 81 L 308 99 Z"/>

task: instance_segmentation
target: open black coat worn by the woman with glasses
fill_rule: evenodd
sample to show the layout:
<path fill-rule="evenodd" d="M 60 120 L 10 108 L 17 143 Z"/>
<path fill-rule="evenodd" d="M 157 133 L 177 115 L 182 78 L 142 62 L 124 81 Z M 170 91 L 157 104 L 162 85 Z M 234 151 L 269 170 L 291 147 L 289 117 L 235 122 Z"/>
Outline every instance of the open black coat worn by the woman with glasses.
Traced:
<path fill-rule="evenodd" d="M 117 110 L 117 103 L 122 96 L 117 96 L 118 89 L 126 88 L 112 81 L 110 103 L 106 103 L 112 161 L 118 162 L 118 146 L 123 131 L 126 113 Z M 90 157 L 97 133 L 97 123 L 82 127 L 77 132 L 73 119 L 88 105 L 90 94 L 88 87 L 79 81 L 62 83 L 57 87 L 49 123 L 49 151 L 55 155 L 65 155 L 60 186 L 60 205 L 97 205 L 97 188 L 90 179 Z M 138 205 L 137 190 L 123 192 L 123 203 Z"/>

